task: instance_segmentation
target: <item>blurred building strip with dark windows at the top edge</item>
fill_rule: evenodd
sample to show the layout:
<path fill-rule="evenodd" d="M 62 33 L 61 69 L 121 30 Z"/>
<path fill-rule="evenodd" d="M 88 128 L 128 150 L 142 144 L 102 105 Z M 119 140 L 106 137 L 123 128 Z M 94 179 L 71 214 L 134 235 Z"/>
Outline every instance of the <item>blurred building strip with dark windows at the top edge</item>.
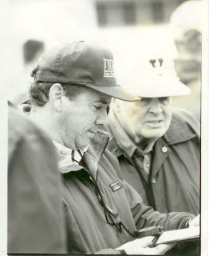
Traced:
<path fill-rule="evenodd" d="M 185 0 L 96 0 L 99 26 L 168 23 L 173 10 Z"/>

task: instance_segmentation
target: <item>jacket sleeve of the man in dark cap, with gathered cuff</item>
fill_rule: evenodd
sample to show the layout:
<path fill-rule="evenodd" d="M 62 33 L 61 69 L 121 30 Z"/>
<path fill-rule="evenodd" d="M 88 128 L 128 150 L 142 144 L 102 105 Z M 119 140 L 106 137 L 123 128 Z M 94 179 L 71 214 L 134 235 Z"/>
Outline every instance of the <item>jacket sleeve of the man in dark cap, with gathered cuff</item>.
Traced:
<path fill-rule="evenodd" d="M 139 230 L 148 226 L 164 226 L 165 230 L 177 230 L 187 227 L 187 221 L 195 218 L 193 214 L 172 212 L 163 214 L 153 210 L 151 206 L 145 206 L 140 195 L 125 183 L 128 202 L 132 210 L 136 229 Z"/>

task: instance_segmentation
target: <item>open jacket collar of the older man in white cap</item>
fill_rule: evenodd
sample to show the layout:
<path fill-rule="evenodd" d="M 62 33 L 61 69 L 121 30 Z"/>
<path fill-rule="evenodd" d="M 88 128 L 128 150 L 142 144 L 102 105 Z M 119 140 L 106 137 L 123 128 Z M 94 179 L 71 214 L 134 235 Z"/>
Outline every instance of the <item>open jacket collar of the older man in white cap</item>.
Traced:
<path fill-rule="evenodd" d="M 185 142 L 191 138 L 195 138 L 196 134 L 191 132 L 191 129 L 189 129 L 186 122 L 179 122 L 179 117 L 178 114 L 176 114 L 176 110 L 173 112 L 174 114 L 172 114 L 172 122 L 168 131 L 162 138 L 159 139 L 163 139 L 168 143 L 168 145 L 173 145 L 176 143 Z M 109 110 L 108 119 L 109 124 L 107 130 L 111 134 L 108 149 L 116 157 L 119 157 L 122 154 L 127 154 L 128 157 L 131 158 L 132 154 L 137 149 L 137 146 L 134 144 L 134 142 L 132 142 L 131 138 L 128 137 L 128 134 L 126 134 L 112 110 Z"/>

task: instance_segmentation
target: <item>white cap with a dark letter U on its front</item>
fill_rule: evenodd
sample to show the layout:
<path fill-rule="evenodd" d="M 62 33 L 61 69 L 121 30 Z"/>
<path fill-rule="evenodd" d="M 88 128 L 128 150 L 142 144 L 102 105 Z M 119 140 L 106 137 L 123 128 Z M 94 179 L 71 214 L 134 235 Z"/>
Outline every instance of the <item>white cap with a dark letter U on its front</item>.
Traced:
<path fill-rule="evenodd" d="M 143 70 L 129 69 L 120 74 L 120 85 L 146 98 L 187 95 L 191 90 L 179 81 L 174 64 L 164 58 L 148 58 Z"/>

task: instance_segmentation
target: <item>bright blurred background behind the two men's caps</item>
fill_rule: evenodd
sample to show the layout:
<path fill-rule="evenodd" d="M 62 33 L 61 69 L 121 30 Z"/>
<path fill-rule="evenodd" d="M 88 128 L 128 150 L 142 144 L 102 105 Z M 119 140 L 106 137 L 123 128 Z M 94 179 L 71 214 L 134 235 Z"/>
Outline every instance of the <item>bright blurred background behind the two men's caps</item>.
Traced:
<path fill-rule="evenodd" d="M 5 94 L 15 104 L 28 98 L 31 70 L 57 42 L 97 39 L 112 49 L 121 84 L 132 67 L 143 75 L 149 56 L 175 59 L 180 80 L 191 86 L 194 95 L 186 101 L 175 98 L 174 105 L 192 106 L 200 118 L 202 4 L 201 0 L 7 0 L 2 4 L 1 40 Z"/>

